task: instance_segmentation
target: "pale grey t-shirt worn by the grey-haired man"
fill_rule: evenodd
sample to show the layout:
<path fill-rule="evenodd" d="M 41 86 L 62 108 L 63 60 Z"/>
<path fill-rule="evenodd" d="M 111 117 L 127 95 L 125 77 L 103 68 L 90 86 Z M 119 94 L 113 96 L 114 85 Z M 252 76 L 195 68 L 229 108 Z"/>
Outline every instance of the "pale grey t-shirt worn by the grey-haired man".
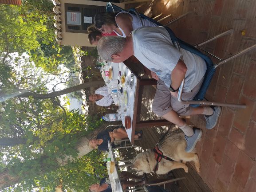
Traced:
<path fill-rule="evenodd" d="M 145 67 L 154 71 L 169 88 L 171 72 L 181 57 L 180 51 L 173 46 L 168 31 L 164 27 L 141 27 L 132 32 L 134 56 Z M 184 92 L 191 91 L 204 77 L 205 60 L 181 49 L 187 72 L 185 74 Z"/>

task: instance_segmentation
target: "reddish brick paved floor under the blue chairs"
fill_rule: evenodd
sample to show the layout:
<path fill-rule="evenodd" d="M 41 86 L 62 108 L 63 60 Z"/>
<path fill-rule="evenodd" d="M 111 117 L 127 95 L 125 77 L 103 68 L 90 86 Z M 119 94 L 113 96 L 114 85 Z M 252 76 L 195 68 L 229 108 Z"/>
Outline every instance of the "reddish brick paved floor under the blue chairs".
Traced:
<path fill-rule="evenodd" d="M 128 5 L 136 6 L 138 4 Z M 194 8 L 197 14 L 170 26 L 186 42 L 200 43 L 233 28 L 232 35 L 205 47 L 221 58 L 256 43 L 256 0 L 154 0 L 153 4 L 148 2 L 138 11 L 153 17 L 172 13 L 173 19 Z M 192 118 L 192 122 L 204 131 L 197 144 L 201 178 L 213 192 L 256 192 L 256 51 L 221 66 L 206 98 L 245 103 L 247 108 L 223 107 L 219 122 L 212 130 L 205 130 L 202 116 Z"/>

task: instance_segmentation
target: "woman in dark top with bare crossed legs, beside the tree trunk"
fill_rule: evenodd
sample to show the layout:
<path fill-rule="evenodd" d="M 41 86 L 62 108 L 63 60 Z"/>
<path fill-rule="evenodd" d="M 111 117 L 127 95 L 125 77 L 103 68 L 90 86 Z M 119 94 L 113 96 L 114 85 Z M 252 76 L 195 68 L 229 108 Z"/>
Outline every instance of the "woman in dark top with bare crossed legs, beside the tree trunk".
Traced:
<path fill-rule="evenodd" d="M 126 130 L 123 128 L 114 129 L 113 131 L 105 130 L 98 133 L 96 139 L 91 139 L 88 142 L 88 146 L 92 149 L 98 149 L 100 151 L 106 151 L 108 141 L 114 142 L 114 139 L 124 139 L 128 137 Z M 135 132 L 134 139 L 142 138 L 142 131 Z"/>

